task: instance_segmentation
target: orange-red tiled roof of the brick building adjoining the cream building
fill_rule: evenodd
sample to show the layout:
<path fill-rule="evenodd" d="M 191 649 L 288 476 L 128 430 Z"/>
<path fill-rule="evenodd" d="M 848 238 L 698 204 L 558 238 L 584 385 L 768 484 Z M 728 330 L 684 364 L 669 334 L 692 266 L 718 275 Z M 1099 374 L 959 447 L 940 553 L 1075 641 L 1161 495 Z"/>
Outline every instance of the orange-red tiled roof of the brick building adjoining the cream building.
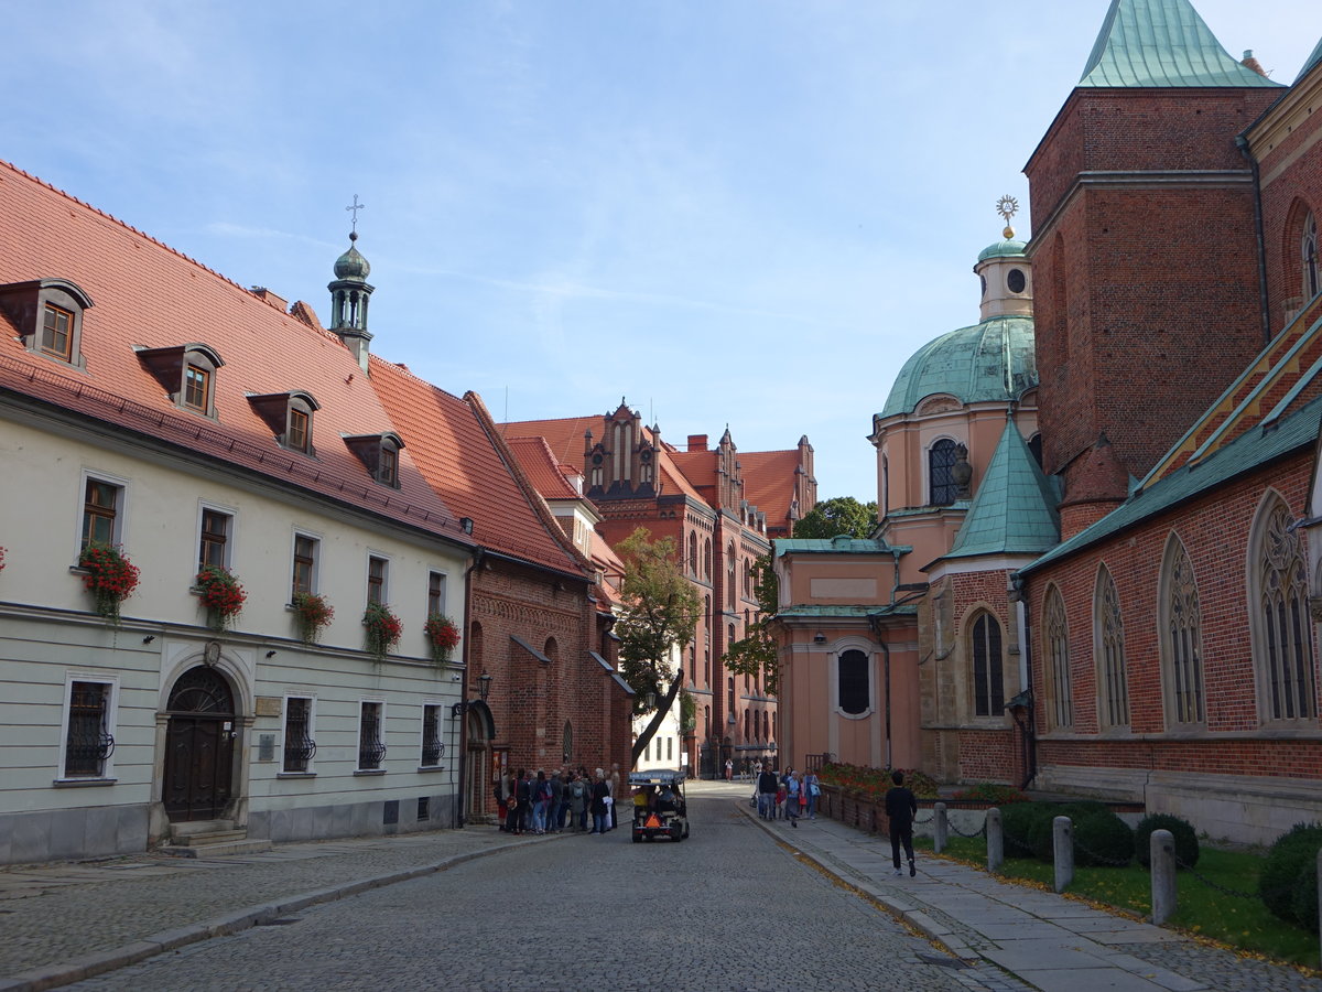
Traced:
<path fill-rule="evenodd" d="M 473 521 L 477 544 L 584 577 L 583 558 L 567 546 L 537 492 L 524 488 L 498 434 L 484 429 L 485 406 L 476 393 L 460 399 L 377 354 L 370 356 L 370 369 L 405 450 L 447 505 Z"/>

